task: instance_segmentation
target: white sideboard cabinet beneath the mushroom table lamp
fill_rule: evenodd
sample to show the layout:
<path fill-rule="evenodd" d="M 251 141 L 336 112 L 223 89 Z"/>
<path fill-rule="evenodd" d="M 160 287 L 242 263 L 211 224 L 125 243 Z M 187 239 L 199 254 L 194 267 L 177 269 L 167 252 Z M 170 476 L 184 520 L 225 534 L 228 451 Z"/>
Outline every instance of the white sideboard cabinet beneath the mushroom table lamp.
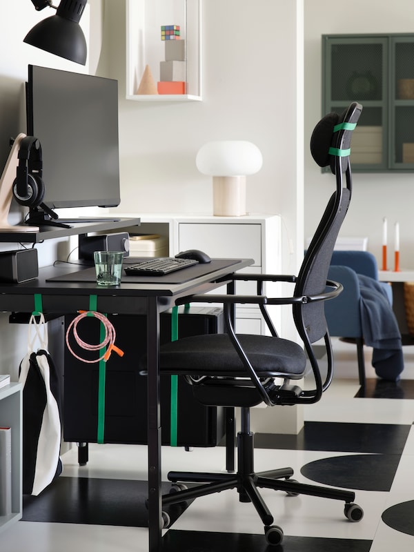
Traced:
<path fill-rule="evenodd" d="M 123 215 L 124 216 L 124 215 Z M 172 257 L 188 249 L 200 249 L 210 257 L 248 258 L 254 264 L 248 273 L 279 274 L 281 270 L 281 218 L 279 215 L 245 215 L 242 217 L 215 217 L 213 215 L 175 215 L 139 213 L 140 233 L 157 234 L 168 240 Z M 135 231 L 137 227 L 135 227 Z M 277 293 L 278 284 L 268 287 L 266 293 Z M 225 289 L 220 290 L 225 291 Z M 254 283 L 240 282 L 238 293 L 255 294 Z M 280 328 L 280 309 L 271 307 L 271 316 Z M 237 308 L 237 332 L 266 333 L 257 306 Z"/>

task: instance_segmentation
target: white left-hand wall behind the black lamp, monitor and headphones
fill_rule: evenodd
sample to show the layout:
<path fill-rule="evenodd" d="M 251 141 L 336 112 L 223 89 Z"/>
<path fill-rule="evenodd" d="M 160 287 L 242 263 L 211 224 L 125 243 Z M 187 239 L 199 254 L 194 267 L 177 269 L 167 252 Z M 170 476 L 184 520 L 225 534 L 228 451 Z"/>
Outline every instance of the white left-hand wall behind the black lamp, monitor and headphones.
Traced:
<path fill-rule="evenodd" d="M 99 19 L 100 0 L 92 0 Z M 41 12 L 34 10 L 30 0 L 12 0 L 1 3 L 0 17 L 0 171 L 9 153 L 10 137 L 16 137 L 19 132 L 26 132 L 26 120 L 23 117 L 23 83 L 28 77 L 28 63 L 54 67 L 76 72 L 86 72 L 86 68 L 77 63 L 56 57 L 48 52 L 42 52 L 23 43 L 28 31 L 41 19 L 55 14 L 55 10 L 46 8 Z M 89 35 L 89 7 L 83 14 L 81 24 L 86 37 Z M 94 32 L 99 37 L 99 26 Z M 99 39 L 97 39 L 99 41 Z M 95 66 L 99 61 L 99 44 L 90 48 Z M 12 202 L 9 216 L 10 224 L 21 220 L 22 210 Z M 61 244 L 60 244 L 61 245 Z M 31 246 L 31 245 L 30 245 Z M 20 244 L 0 243 L 0 250 L 21 248 Z M 52 264 L 59 255 L 60 246 L 57 241 L 37 245 L 39 264 Z M 61 258 L 61 257 L 60 257 Z M 0 313 L 0 373 L 10 373 L 17 380 L 19 362 L 27 351 L 27 327 L 25 325 L 8 324 L 8 313 Z"/>

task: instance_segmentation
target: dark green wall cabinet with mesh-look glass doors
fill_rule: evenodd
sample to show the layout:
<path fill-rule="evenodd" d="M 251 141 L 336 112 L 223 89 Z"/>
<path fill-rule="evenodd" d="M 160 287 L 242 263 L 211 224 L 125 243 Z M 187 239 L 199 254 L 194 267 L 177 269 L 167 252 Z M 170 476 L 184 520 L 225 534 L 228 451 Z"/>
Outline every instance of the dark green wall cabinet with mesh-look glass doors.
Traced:
<path fill-rule="evenodd" d="M 353 171 L 414 171 L 414 34 L 322 36 L 322 112 L 351 101 Z"/>

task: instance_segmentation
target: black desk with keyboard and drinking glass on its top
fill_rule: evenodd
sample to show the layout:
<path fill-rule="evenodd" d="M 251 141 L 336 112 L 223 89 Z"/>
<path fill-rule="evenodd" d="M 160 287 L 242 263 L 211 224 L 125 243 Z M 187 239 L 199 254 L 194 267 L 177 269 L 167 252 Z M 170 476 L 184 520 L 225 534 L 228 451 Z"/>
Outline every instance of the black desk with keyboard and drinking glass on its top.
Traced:
<path fill-rule="evenodd" d="M 148 277 L 147 282 L 132 283 L 123 277 L 116 288 L 101 288 L 95 282 L 82 282 L 81 276 L 69 277 L 67 265 L 46 267 L 39 270 L 39 277 L 24 284 L 0 283 L 0 310 L 34 311 L 34 294 L 42 297 L 44 313 L 74 313 L 89 310 L 90 295 L 97 295 L 97 310 L 102 313 L 145 314 L 148 331 L 148 515 L 149 550 L 161 550 L 161 422 L 159 385 L 159 315 L 174 306 L 180 297 L 193 293 L 206 293 L 222 282 L 217 279 L 253 264 L 253 259 L 213 259 L 210 264 L 196 265 L 176 273 L 171 278 Z M 178 275 L 186 282 L 180 282 Z M 189 278 L 188 275 L 191 275 Z M 132 277 L 133 278 L 133 277 Z M 52 281 L 50 281 L 52 279 Z M 141 277 L 143 279 L 143 277 Z M 74 281 L 79 280 L 79 281 Z"/>

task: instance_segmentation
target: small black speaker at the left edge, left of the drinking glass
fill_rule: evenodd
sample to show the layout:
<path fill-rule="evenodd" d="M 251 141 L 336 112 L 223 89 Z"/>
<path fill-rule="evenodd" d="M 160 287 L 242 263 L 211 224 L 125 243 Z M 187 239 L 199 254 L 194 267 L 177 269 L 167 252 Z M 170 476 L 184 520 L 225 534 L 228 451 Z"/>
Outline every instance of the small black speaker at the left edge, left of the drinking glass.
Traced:
<path fill-rule="evenodd" d="M 39 264 L 37 249 L 0 251 L 0 279 L 2 282 L 21 284 L 37 278 Z"/>

